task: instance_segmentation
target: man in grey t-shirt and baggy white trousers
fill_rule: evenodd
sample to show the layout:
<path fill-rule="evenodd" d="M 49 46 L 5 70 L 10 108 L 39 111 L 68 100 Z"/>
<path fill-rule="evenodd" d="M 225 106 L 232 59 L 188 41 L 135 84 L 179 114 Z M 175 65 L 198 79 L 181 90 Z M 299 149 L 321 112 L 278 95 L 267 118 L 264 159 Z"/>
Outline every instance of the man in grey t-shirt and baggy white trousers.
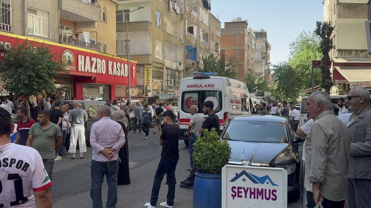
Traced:
<path fill-rule="evenodd" d="M 84 109 L 80 108 L 78 101 L 73 102 L 74 109 L 70 111 L 68 122 L 71 123 L 71 139 L 70 149 L 68 152 L 72 153 L 72 159 L 75 159 L 77 139 L 79 139 L 80 158 L 84 158 L 84 152 L 87 151 L 85 142 L 85 122 L 88 121 L 88 114 Z"/>

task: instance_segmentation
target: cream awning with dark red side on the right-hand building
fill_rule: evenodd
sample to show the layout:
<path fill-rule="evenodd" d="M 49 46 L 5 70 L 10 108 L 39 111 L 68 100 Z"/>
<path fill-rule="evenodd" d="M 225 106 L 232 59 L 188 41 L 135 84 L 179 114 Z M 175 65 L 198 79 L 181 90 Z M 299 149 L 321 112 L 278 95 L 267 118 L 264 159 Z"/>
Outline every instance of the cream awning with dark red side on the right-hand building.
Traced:
<path fill-rule="evenodd" d="M 334 67 L 334 80 L 348 80 L 348 83 L 371 82 L 371 67 Z"/>

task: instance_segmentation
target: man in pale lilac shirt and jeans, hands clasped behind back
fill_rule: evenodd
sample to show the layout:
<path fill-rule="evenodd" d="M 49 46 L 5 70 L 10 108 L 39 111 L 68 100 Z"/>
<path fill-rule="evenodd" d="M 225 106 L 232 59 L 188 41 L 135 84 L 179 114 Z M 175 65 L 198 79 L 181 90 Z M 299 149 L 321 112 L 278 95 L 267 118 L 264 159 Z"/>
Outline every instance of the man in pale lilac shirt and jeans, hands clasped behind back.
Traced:
<path fill-rule="evenodd" d="M 72 112 L 72 111 L 71 111 Z M 119 149 L 125 144 L 125 134 L 121 125 L 109 118 L 111 109 L 103 105 L 98 109 L 99 121 L 92 126 L 90 144 L 93 147 L 90 197 L 93 208 L 102 208 L 102 184 L 104 175 L 108 184 L 106 208 L 116 208 L 117 204 L 117 161 Z"/>

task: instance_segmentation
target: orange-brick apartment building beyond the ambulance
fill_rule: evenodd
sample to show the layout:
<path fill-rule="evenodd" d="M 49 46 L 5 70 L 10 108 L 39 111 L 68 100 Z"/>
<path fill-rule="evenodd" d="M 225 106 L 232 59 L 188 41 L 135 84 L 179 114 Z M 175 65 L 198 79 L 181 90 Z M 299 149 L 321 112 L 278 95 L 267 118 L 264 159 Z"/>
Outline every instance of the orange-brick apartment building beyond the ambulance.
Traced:
<path fill-rule="evenodd" d="M 232 22 L 225 22 L 221 31 L 221 45 L 224 50 L 223 56 L 228 56 L 233 65 L 236 78 L 239 81 L 246 80 L 248 70 L 255 70 L 255 35 L 248 28 L 247 20 L 242 21 L 240 17 Z M 226 60 L 226 57 L 222 57 Z"/>

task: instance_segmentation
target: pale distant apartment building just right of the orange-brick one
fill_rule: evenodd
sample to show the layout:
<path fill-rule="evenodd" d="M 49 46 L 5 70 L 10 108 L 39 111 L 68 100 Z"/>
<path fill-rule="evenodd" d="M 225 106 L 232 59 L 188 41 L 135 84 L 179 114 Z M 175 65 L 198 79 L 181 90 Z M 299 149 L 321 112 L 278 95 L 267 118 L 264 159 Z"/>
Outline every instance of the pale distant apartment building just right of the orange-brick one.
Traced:
<path fill-rule="evenodd" d="M 261 76 L 268 76 L 270 73 L 270 50 L 267 32 L 264 29 L 254 31 L 255 35 L 255 72 Z"/>

